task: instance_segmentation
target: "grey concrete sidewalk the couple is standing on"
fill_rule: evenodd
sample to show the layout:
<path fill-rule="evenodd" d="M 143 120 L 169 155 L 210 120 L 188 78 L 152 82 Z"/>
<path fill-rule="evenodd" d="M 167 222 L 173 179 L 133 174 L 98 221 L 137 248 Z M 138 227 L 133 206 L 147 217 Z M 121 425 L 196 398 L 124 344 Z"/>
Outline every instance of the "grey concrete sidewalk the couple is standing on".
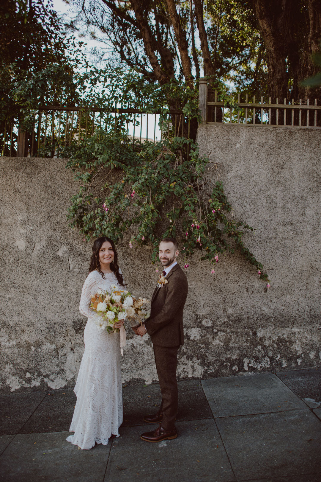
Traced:
<path fill-rule="evenodd" d="M 65 442 L 71 390 L 0 396 L 0 480 L 6 482 L 320 482 L 321 370 L 179 382 L 172 441 L 140 439 L 159 386 L 123 389 L 120 437 L 78 450 Z"/>

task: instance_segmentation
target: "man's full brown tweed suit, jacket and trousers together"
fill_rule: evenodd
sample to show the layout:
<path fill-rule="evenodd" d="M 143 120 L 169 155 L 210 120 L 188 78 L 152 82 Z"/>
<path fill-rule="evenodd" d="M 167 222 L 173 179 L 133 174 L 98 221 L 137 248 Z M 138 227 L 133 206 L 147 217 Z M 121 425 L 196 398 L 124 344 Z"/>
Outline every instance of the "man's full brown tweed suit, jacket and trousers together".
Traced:
<path fill-rule="evenodd" d="M 159 413 L 163 414 L 162 428 L 170 431 L 178 408 L 176 379 L 177 350 L 184 343 L 183 309 L 188 293 L 187 278 L 175 265 L 167 274 L 168 283 L 156 287 L 152 296 L 151 316 L 145 321 L 154 348 L 156 370 L 162 392 Z"/>

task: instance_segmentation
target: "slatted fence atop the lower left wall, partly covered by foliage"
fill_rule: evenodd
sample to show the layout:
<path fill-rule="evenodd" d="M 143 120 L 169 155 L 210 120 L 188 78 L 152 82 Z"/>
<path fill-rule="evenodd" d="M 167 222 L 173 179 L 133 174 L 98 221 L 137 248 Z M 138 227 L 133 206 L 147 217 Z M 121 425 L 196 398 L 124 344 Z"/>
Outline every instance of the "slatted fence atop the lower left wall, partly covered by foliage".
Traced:
<path fill-rule="evenodd" d="M 156 142 L 157 115 L 162 114 L 165 122 L 160 130 L 160 141 L 165 137 L 164 128 L 169 135 L 189 135 L 189 121 L 185 119 L 180 109 L 170 109 L 166 114 L 160 110 L 150 114 L 143 109 L 117 108 L 103 109 L 100 107 L 59 107 L 41 106 L 31 122 L 29 131 L 19 126 L 17 119 L 5 122 L 2 134 L 1 155 L 26 157 L 59 157 L 65 149 L 79 145 L 82 137 L 92 136 L 96 129 L 107 131 L 120 126 L 125 130 L 127 138 L 135 142 Z M 142 124 L 146 122 L 146 131 Z M 129 125 L 133 134 L 129 135 Z M 149 126 L 152 126 L 152 135 Z M 157 126 L 158 127 L 158 126 Z M 146 134 L 146 135 L 145 135 Z"/>

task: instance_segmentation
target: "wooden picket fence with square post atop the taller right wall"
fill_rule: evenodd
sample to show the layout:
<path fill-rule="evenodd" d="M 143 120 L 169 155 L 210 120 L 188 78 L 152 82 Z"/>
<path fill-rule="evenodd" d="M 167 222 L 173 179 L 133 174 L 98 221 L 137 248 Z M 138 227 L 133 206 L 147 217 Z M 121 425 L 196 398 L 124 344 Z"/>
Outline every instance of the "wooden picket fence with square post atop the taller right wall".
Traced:
<path fill-rule="evenodd" d="M 291 99 L 283 99 L 283 103 L 265 103 L 263 97 L 257 102 L 254 96 L 252 102 L 245 95 L 245 102 L 241 101 L 241 94 L 237 94 L 237 100 L 231 99 L 229 105 L 224 105 L 218 100 L 218 93 L 207 86 L 206 79 L 200 80 L 199 107 L 202 122 L 207 124 L 234 124 L 247 127 L 299 127 L 321 129 L 321 106 L 317 105 L 317 99 L 310 105 L 310 99 L 303 104 L 302 99 L 295 102 Z"/>

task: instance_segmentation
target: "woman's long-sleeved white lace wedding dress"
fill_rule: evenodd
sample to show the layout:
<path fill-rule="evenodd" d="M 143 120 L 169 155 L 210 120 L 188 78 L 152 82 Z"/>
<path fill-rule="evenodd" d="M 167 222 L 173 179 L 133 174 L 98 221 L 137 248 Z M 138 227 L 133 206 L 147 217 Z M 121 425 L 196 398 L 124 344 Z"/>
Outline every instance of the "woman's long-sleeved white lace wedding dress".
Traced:
<path fill-rule="evenodd" d="M 79 310 L 88 317 L 84 331 L 85 351 L 81 360 L 74 392 L 77 402 L 67 441 L 82 449 L 90 449 L 95 442 L 107 445 L 112 433 L 119 436 L 123 421 L 123 399 L 120 372 L 119 333 L 100 331 L 92 321 L 90 299 L 100 289 L 110 291 L 119 285 L 114 273 L 105 280 L 92 271 L 82 288 Z"/>

